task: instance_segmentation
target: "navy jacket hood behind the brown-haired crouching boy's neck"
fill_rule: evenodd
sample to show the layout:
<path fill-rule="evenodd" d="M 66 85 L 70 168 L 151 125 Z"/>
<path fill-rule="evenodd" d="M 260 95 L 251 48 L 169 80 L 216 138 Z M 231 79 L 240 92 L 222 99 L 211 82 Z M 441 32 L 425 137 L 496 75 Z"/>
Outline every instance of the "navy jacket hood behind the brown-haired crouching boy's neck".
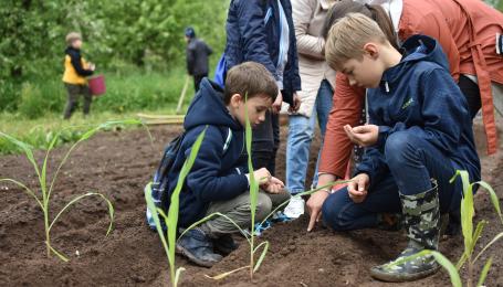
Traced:
<path fill-rule="evenodd" d="M 223 89 L 208 78 L 202 79 L 201 87 L 193 97 L 184 121 L 186 130 L 201 125 L 226 126 L 233 130 L 242 129 L 223 103 Z"/>

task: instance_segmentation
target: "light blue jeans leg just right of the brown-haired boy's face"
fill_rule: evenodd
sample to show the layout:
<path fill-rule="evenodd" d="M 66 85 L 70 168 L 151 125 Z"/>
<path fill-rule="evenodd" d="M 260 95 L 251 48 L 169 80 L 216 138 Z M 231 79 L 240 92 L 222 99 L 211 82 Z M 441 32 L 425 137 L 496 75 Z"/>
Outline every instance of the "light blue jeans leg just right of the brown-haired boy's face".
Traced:
<path fill-rule="evenodd" d="M 311 141 L 314 130 L 313 117 L 290 116 L 286 144 L 286 189 L 295 194 L 304 191 Z"/>

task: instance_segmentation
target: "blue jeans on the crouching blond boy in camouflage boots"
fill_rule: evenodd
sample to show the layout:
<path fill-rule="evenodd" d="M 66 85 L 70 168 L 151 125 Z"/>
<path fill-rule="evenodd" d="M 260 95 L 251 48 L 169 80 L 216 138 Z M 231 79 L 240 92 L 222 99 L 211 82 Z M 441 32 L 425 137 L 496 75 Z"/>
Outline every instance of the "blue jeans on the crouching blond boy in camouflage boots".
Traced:
<path fill-rule="evenodd" d="M 365 201 L 353 202 L 347 188 L 326 199 L 322 212 L 328 226 L 336 231 L 375 227 L 379 213 L 401 212 L 398 191 L 407 195 L 422 193 L 431 189 L 431 178 L 438 183 L 440 212 L 459 209 L 461 180 L 449 183 L 455 168 L 451 159 L 429 141 L 410 131 L 398 131 L 388 137 L 384 156 L 389 171 L 370 182 Z"/>

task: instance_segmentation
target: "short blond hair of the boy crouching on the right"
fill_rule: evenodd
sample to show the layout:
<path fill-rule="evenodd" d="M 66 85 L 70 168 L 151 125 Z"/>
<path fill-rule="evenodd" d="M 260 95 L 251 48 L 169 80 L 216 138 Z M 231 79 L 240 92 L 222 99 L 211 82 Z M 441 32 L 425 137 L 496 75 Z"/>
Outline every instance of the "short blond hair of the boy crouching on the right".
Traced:
<path fill-rule="evenodd" d="M 379 25 L 361 13 L 348 13 L 329 30 L 325 44 L 326 62 L 335 70 L 350 59 L 360 60 L 364 46 L 370 41 L 387 43 Z"/>

